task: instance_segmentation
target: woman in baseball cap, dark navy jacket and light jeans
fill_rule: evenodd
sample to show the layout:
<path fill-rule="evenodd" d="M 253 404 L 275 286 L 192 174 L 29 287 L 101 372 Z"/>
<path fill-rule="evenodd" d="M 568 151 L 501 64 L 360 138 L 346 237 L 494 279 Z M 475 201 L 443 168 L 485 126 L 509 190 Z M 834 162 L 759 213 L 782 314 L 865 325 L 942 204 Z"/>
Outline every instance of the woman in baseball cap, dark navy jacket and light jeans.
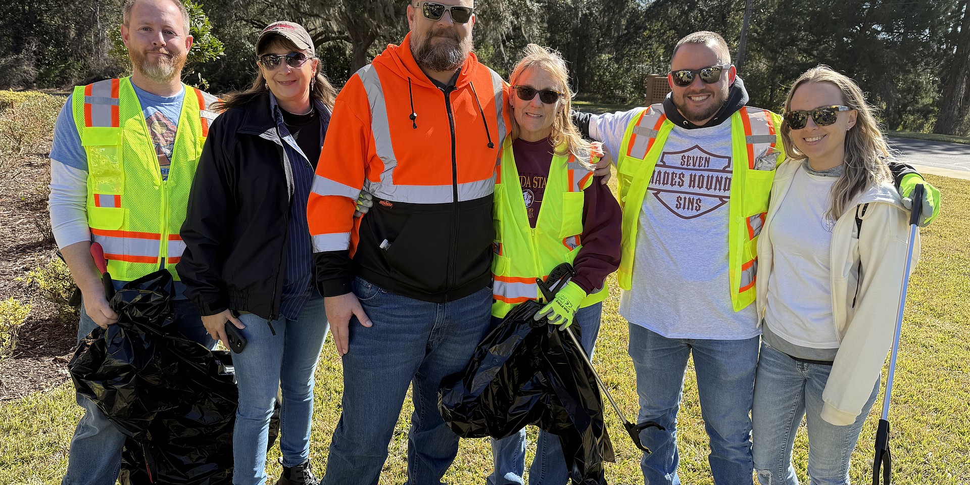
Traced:
<path fill-rule="evenodd" d="M 336 90 L 297 23 L 263 29 L 256 58 L 255 81 L 225 96 L 211 123 L 181 230 L 178 274 L 212 338 L 227 342 L 229 328 L 246 340 L 233 356 L 233 483 L 266 483 L 278 388 L 283 473 L 276 483 L 315 485 L 308 456 L 313 371 L 328 324 L 313 285 L 307 196 Z"/>

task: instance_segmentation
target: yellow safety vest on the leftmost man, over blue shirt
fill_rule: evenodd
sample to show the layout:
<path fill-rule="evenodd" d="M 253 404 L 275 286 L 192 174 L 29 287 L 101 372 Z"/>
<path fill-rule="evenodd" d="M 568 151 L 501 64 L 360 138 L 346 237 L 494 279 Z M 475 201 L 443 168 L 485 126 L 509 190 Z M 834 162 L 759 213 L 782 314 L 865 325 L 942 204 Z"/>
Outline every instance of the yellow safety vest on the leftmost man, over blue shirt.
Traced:
<path fill-rule="evenodd" d="M 216 114 L 218 99 L 184 85 L 176 143 L 167 180 L 145 114 L 130 78 L 74 88 L 74 122 L 87 153 L 87 224 L 100 242 L 115 279 L 130 281 L 165 268 L 178 280 L 175 265 L 184 242 L 189 188 Z"/>

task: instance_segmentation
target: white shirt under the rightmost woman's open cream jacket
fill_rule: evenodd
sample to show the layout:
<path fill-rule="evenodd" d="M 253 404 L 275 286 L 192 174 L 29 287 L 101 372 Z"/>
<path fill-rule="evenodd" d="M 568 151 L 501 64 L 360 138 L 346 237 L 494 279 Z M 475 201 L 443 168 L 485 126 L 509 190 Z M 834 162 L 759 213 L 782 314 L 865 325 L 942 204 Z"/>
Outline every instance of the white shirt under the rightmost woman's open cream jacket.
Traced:
<path fill-rule="evenodd" d="M 801 165 L 768 228 L 775 257 L 764 324 L 803 347 L 839 346 L 829 260 L 835 219 L 825 213 L 836 180 L 809 174 Z"/>

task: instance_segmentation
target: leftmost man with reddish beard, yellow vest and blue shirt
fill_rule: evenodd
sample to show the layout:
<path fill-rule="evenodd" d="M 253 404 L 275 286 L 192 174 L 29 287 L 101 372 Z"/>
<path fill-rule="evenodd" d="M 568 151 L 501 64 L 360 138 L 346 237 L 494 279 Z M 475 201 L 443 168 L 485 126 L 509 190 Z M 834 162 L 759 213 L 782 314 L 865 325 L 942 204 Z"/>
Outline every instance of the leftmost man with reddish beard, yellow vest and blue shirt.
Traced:
<path fill-rule="evenodd" d="M 75 88 L 57 117 L 50 149 L 50 219 L 57 246 L 83 294 L 79 339 L 117 320 L 91 257 L 99 242 L 115 285 L 167 269 L 176 279 L 176 328 L 207 346 L 199 313 L 181 297 L 175 265 L 189 186 L 208 135 L 209 93 L 180 81 L 192 46 L 188 14 L 175 0 L 124 2 L 121 36 L 130 78 Z M 86 398 L 71 440 L 65 484 L 115 482 L 121 435 Z"/>

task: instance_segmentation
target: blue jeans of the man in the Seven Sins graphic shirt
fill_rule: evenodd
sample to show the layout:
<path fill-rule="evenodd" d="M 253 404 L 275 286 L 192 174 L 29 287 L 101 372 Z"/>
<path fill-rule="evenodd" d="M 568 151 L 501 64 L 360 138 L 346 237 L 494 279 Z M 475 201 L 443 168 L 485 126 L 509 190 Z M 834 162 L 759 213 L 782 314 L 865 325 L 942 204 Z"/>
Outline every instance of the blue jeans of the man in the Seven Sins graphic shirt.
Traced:
<path fill-rule="evenodd" d="M 640 400 L 638 422 L 655 421 L 643 445 L 653 451 L 640 460 L 646 485 L 680 483 L 677 476 L 677 411 L 688 357 L 694 354 L 700 414 L 711 453 L 707 461 L 717 485 L 752 483 L 751 402 L 760 337 L 742 340 L 666 339 L 630 324 L 630 358 Z"/>

